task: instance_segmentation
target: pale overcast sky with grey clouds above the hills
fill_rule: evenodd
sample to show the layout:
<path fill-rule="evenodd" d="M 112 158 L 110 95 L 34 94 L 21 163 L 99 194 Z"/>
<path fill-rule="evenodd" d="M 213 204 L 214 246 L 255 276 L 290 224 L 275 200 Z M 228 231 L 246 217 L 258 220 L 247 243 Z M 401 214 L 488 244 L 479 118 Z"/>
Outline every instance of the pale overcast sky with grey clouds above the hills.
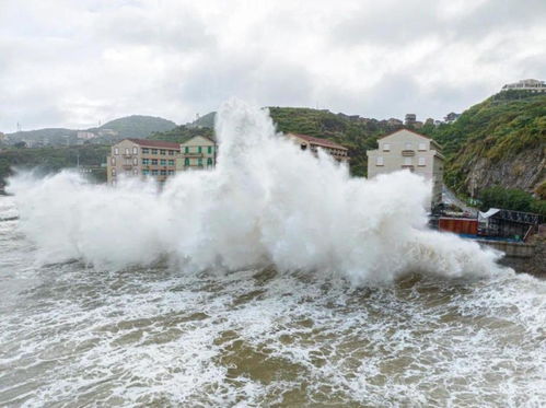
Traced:
<path fill-rule="evenodd" d="M 546 80 L 545 0 L 0 0 L 0 131 L 177 124 L 235 96 L 441 119 Z"/>

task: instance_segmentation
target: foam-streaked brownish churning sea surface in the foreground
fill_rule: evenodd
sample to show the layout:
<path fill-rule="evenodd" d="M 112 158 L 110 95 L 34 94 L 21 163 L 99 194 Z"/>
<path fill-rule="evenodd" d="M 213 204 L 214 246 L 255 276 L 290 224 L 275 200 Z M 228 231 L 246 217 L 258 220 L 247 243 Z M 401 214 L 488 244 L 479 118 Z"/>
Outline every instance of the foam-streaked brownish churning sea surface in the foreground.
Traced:
<path fill-rule="evenodd" d="M 546 401 L 546 284 L 526 275 L 352 288 L 274 268 L 38 267 L 18 222 L 0 221 L 0 406 Z"/>

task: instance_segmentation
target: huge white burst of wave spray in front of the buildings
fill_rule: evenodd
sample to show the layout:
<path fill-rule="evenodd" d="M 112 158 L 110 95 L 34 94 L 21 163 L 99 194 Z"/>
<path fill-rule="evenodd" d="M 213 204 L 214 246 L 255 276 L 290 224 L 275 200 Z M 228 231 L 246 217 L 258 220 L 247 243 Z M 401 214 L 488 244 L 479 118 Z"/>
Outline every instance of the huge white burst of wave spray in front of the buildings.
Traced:
<path fill-rule="evenodd" d="M 488 276 L 499 253 L 427 229 L 429 185 L 398 172 L 351 178 L 327 154 L 312 156 L 276 133 L 267 110 L 232 100 L 219 112 L 218 166 L 116 188 L 62 172 L 10 180 L 23 232 L 40 261 L 149 265 L 167 256 L 187 270 L 339 273 L 353 283 L 408 271 Z"/>

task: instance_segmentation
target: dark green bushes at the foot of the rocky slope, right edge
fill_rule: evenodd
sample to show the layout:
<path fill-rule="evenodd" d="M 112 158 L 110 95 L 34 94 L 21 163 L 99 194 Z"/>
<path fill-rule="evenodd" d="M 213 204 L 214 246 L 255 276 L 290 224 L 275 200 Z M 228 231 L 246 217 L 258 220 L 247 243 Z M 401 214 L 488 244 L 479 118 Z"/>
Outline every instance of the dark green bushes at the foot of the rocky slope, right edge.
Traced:
<path fill-rule="evenodd" d="M 536 212 L 546 215 L 546 201 L 537 200 L 531 194 L 515 189 L 493 186 L 485 188 L 479 194 L 481 210 L 501 208 L 507 210 Z"/>

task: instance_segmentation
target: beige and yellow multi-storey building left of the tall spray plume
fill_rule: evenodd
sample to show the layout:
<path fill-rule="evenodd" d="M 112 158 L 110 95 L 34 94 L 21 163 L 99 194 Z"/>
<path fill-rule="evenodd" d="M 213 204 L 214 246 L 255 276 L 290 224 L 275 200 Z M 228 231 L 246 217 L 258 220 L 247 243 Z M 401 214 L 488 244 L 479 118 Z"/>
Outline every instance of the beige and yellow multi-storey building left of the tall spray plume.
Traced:
<path fill-rule="evenodd" d="M 111 155 L 106 158 L 107 180 L 115 185 L 124 175 L 153 177 L 163 183 L 179 172 L 213 167 L 217 150 L 216 142 L 202 136 L 184 143 L 124 139 L 112 147 Z"/>

